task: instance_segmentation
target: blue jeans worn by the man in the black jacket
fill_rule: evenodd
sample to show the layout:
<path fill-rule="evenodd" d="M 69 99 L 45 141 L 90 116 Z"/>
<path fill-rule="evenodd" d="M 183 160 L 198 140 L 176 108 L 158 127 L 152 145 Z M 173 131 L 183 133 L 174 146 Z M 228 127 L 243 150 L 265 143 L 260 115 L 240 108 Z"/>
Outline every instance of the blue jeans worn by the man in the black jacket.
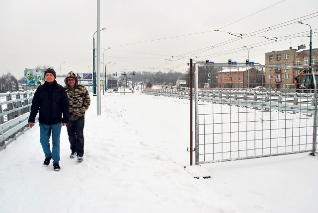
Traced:
<path fill-rule="evenodd" d="M 40 124 L 40 143 L 46 157 L 52 155 L 53 163 L 60 161 L 60 135 L 62 123 L 53 125 Z M 50 137 L 52 133 L 52 152 L 50 148 Z"/>

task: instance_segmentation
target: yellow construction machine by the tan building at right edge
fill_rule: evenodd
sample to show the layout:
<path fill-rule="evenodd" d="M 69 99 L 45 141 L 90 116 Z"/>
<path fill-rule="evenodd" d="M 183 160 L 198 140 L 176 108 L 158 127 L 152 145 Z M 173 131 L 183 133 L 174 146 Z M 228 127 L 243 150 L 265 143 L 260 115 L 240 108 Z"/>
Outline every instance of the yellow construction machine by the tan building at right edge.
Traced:
<path fill-rule="evenodd" d="M 318 82 L 317 69 L 313 69 L 316 83 Z M 315 84 L 313 73 L 309 73 L 308 69 L 304 69 L 298 75 L 295 76 L 295 89 L 299 93 L 313 93 L 315 91 Z"/>

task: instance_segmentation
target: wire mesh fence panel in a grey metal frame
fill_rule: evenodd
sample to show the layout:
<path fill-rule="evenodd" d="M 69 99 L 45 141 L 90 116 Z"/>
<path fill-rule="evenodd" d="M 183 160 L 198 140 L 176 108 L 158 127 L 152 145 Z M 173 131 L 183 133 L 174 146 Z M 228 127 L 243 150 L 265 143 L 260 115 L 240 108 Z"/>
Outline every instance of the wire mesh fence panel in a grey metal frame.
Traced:
<path fill-rule="evenodd" d="M 196 164 L 315 152 L 316 71 L 295 88 L 306 68 L 195 64 Z"/>

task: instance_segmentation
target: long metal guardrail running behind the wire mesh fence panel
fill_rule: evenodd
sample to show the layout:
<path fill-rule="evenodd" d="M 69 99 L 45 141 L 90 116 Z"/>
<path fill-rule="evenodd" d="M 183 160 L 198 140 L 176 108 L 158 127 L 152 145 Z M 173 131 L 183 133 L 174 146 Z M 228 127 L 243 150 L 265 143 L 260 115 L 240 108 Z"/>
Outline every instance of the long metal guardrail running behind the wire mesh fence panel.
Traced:
<path fill-rule="evenodd" d="M 163 95 L 190 99 L 190 90 L 144 89 L 145 94 Z M 292 111 L 293 113 L 314 114 L 314 93 L 286 93 L 277 90 L 248 91 L 231 89 L 200 89 L 199 100 L 218 104 L 230 104 L 253 109 Z"/>

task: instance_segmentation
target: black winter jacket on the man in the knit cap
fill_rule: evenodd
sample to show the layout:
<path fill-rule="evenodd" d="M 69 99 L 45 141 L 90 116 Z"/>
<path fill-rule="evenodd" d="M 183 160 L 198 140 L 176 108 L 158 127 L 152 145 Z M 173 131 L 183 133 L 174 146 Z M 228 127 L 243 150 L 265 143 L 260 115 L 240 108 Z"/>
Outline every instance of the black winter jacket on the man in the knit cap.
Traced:
<path fill-rule="evenodd" d="M 56 80 L 40 85 L 34 93 L 28 122 L 35 122 L 39 112 L 39 123 L 52 125 L 69 122 L 69 99 L 62 85 Z M 62 118 L 63 114 L 63 118 Z"/>

